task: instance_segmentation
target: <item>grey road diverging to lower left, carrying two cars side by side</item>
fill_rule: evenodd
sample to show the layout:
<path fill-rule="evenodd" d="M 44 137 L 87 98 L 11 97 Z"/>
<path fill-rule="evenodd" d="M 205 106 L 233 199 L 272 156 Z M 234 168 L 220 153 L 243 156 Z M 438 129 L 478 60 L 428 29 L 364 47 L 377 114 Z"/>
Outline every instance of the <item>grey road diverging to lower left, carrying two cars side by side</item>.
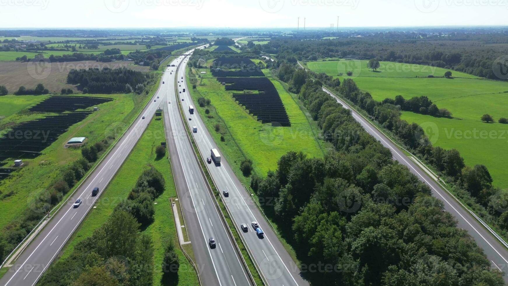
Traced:
<path fill-rule="evenodd" d="M 146 129 L 147 123 L 160 103 L 154 102 L 160 92 L 161 88 L 150 99 L 140 115 L 134 120 L 133 124 L 110 150 L 104 160 L 100 162 L 76 190 L 74 195 L 69 198 L 39 235 L 16 259 L 13 266 L 0 279 L 0 285 L 34 285 L 90 209 L 92 207 L 101 207 L 101 205 L 94 206 L 94 203 L 99 199 L 103 190 Z M 143 116 L 146 119 L 142 119 Z M 91 190 L 94 187 L 99 187 L 100 192 L 97 196 L 92 197 Z M 81 199 L 83 203 L 79 207 L 74 208 L 73 204 L 77 199 Z"/>

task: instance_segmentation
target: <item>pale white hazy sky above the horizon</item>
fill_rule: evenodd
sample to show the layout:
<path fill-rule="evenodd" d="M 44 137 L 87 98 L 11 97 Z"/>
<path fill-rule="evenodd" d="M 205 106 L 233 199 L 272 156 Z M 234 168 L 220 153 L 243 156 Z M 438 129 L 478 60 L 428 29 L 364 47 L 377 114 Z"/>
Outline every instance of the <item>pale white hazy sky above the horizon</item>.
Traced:
<path fill-rule="evenodd" d="M 0 0 L 0 29 L 508 25 L 508 0 Z"/>

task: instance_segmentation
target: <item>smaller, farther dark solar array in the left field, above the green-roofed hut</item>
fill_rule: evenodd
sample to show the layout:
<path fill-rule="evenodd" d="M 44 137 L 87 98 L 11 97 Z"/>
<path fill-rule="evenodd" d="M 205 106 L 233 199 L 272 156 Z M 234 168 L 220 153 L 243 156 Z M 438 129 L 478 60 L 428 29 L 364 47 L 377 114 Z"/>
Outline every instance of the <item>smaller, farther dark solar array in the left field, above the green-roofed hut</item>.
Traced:
<path fill-rule="evenodd" d="M 52 96 L 31 107 L 33 112 L 76 111 L 112 101 L 112 98 L 78 97 L 78 96 Z"/>

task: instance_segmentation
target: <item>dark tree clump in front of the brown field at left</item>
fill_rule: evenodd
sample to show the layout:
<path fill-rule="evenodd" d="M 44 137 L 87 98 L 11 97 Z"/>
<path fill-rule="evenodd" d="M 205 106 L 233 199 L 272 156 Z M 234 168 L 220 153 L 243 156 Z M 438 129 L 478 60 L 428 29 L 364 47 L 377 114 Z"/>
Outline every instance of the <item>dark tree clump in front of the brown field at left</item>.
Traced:
<path fill-rule="evenodd" d="M 141 93 L 145 90 L 146 81 L 149 79 L 153 79 L 153 75 L 127 68 L 110 69 L 108 67 L 71 70 L 67 75 L 67 82 L 79 84 L 78 87 L 86 91 L 85 93 L 130 93 L 133 90 Z"/>

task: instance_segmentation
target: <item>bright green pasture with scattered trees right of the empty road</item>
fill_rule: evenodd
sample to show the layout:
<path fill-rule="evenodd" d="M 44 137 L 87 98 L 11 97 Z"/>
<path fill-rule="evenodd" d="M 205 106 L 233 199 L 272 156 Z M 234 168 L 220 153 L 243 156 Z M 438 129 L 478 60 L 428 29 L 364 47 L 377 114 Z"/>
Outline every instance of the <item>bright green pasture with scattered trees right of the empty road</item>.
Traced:
<path fill-rule="evenodd" d="M 427 96 L 439 108 L 450 110 L 454 118 L 402 112 L 402 119 L 421 124 L 435 146 L 458 149 L 466 165 L 487 166 L 494 185 L 508 188 L 508 170 L 504 168 L 508 162 L 508 124 L 497 122 L 500 117 L 508 118 L 508 82 L 452 70 L 453 78 L 447 79 L 442 77 L 446 69 L 383 61 L 378 72 L 367 69 L 367 60 L 312 61 L 307 62 L 307 67 L 341 81 L 353 78 L 377 101 L 393 99 L 398 94 L 405 99 Z M 353 76 L 346 76 L 347 71 L 353 71 Z M 428 78 L 429 74 L 438 78 Z M 480 117 L 485 113 L 496 122 L 482 122 Z"/>

